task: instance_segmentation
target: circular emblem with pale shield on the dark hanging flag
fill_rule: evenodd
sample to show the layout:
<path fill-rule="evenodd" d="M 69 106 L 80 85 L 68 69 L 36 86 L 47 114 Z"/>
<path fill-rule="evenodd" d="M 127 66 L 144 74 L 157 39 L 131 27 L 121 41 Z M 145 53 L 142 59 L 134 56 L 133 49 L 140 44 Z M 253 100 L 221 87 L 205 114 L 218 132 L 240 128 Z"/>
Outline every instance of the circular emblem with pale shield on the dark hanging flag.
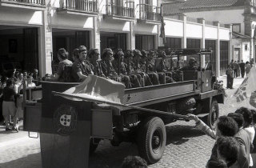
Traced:
<path fill-rule="evenodd" d="M 77 119 L 74 106 L 61 105 L 54 111 L 54 128 L 58 134 L 70 135 L 76 130 Z"/>

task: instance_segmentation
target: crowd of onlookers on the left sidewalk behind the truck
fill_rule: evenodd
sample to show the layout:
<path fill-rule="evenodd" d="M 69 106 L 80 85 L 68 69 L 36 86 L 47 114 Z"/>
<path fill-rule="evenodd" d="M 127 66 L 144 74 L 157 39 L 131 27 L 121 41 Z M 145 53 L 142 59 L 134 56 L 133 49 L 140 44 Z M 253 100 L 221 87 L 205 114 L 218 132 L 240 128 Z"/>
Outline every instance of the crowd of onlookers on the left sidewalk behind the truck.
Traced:
<path fill-rule="evenodd" d="M 38 70 L 8 70 L 0 74 L 0 122 L 4 119 L 6 131 L 18 132 L 18 121 L 23 118 L 22 89 L 40 85 Z"/>

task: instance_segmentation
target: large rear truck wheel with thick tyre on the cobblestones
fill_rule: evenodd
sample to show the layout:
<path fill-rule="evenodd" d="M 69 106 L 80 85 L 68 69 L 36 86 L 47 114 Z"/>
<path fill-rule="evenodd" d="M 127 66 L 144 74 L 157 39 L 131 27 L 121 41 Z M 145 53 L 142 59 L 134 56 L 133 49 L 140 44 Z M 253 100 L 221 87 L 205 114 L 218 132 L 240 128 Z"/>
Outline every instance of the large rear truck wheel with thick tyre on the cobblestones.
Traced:
<path fill-rule="evenodd" d="M 166 149 L 166 127 L 161 118 L 146 118 L 138 131 L 138 153 L 150 164 L 158 162 Z"/>

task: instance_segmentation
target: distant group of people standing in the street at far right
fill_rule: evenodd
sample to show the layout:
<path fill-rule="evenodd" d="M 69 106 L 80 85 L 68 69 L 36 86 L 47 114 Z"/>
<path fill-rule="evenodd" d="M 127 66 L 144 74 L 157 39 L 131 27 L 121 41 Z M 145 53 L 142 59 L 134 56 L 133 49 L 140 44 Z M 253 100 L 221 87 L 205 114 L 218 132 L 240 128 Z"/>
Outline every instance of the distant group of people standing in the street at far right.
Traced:
<path fill-rule="evenodd" d="M 251 58 L 250 62 L 243 62 L 243 60 L 240 62 L 232 59 L 226 69 L 226 88 L 233 89 L 234 78 L 240 76 L 244 78 L 245 74 L 246 76 L 249 74 L 252 66 L 254 66 L 254 58 Z"/>

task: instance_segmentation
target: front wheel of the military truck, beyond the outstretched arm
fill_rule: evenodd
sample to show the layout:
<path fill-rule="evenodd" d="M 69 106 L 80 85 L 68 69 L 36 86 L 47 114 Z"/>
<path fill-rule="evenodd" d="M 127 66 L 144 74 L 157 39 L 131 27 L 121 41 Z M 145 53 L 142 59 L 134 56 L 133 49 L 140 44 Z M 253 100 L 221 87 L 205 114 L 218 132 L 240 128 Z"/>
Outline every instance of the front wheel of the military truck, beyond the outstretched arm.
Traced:
<path fill-rule="evenodd" d="M 210 113 L 207 118 L 207 125 L 210 126 L 211 129 L 214 129 L 214 124 L 218 119 L 218 115 L 218 102 L 216 99 L 213 99 L 210 106 Z"/>

